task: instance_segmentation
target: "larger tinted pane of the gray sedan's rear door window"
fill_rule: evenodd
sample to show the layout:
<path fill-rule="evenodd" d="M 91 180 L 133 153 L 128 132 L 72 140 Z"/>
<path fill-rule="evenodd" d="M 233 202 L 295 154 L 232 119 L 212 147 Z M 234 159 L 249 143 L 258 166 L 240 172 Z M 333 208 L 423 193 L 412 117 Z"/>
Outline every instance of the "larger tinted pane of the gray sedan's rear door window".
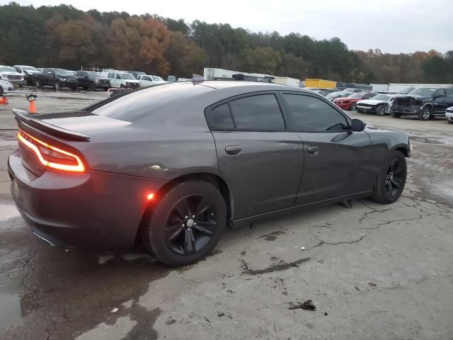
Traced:
<path fill-rule="evenodd" d="M 260 94 L 230 101 L 234 123 L 239 130 L 285 130 L 282 111 L 273 94 Z"/>

